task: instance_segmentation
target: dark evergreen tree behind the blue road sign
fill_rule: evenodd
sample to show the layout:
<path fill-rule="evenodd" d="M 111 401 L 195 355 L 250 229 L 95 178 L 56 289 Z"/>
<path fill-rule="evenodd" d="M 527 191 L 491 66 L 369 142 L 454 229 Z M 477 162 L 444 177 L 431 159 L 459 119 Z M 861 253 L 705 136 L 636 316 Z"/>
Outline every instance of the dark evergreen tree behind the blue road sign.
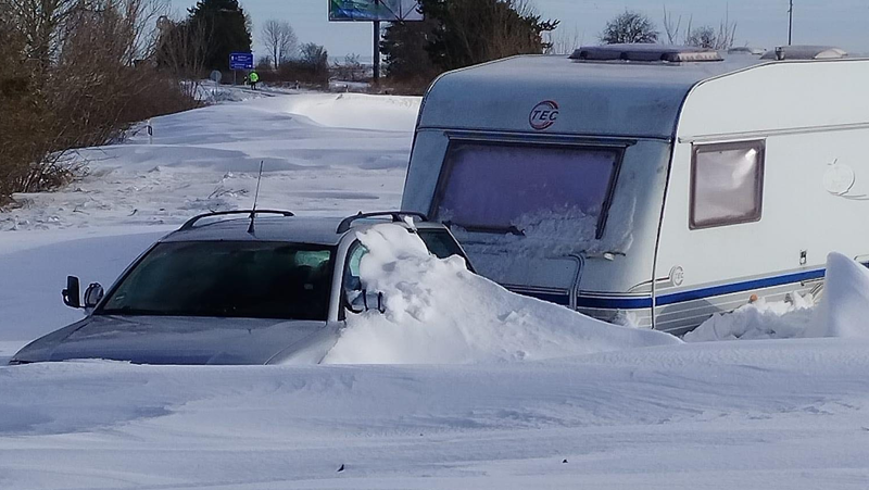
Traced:
<path fill-rule="evenodd" d="M 199 0 L 188 12 L 189 26 L 210 40 L 207 70 L 229 70 L 229 53 L 251 50 L 250 22 L 238 0 Z"/>

